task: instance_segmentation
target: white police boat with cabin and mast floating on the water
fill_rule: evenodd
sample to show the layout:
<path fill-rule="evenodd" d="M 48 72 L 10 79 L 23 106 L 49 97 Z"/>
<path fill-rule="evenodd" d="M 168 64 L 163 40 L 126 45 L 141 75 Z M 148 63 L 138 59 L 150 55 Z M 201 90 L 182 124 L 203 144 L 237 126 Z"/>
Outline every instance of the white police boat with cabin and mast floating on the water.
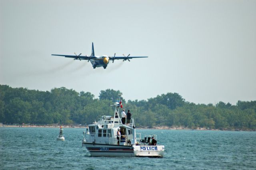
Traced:
<path fill-rule="evenodd" d="M 113 102 L 111 106 L 115 107 L 114 116 L 102 116 L 98 122 L 88 125 L 82 147 L 86 147 L 91 156 L 163 158 L 164 146 L 153 141 L 157 136 L 148 135 L 141 139 L 141 134 L 136 134 L 134 119 L 128 125 L 122 124 L 119 116 L 120 101 Z"/>

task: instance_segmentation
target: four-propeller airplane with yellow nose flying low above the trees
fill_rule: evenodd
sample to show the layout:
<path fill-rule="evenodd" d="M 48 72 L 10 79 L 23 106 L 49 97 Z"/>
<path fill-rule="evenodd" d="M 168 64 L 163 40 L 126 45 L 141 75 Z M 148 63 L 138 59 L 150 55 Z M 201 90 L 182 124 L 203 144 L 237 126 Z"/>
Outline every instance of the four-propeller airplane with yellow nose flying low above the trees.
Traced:
<path fill-rule="evenodd" d="M 123 54 L 123 56 L 116 56 L 116 53 L 114 54 L 114 56 L 95 56 L 94 55 L 94 47 L 93 47 L 93 42 L 92 42 L 92 54 L 90 56 L 81 56 L 82 53 L 80 53 L 79 55 L 76 55 L 76 53 L 74 52 L 75 56 L 70 56 L 70 55 L 59 55 L 59 54 L 52 54 L 52 56 L 63 56 L 63 57 L 67 57 L 67 58 L 74 58 L 74 60 L 88 60 L 88 62 L 90 61 L 92 63 L 92 67 L 96 68 L 96 67 L 103 67 L 104 69 L 106 69 L 106 67 L 108 66 L 108 63 L 110 60 L 112 60 L 112 63 L 114 63 L 114 60 L 123 60 L 126 61 L 128 60 L 130 62 L 129 59 L 132 58 L 146 58 L 148 56 L 130 56 L 130 54 L 128 56 L 125 56 Z"/>

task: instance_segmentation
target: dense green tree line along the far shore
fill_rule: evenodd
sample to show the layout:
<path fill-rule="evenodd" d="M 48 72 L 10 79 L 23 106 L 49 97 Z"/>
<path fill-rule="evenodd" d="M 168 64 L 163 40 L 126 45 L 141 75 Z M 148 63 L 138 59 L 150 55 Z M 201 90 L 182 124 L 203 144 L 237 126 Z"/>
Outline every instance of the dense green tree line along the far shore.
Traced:
<path fill-rule="evenodd" d="M 101 90 L 99 98 L 90 92 L 65 87 L 49 91 L 0 85 L 0 122 L 4 124 L 91 124 L 102 115 L 114 114 L 112 100 L 120 90 Z M 158 95 L 148 100 L 122 98 L 139 127 L 186 126 L 188 128 L 256 130 L 256 101 L 236 105 L 218 102 L 194 104 L 178 93 Z"/>

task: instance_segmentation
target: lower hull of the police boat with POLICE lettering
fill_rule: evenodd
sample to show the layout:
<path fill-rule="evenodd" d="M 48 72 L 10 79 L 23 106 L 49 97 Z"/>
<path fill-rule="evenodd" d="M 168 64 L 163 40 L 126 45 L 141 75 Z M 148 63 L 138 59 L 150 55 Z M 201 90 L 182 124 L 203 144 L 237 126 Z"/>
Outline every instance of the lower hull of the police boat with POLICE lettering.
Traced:
<path fill-rule="evenodd" d="M 122 146 L 108 144 L 92 144 L 82 142 L 82 146 L 86 147 L 91 156 L 107 156 L 107 157 L 157 157 L 164 156 L 164 146 Z"/>

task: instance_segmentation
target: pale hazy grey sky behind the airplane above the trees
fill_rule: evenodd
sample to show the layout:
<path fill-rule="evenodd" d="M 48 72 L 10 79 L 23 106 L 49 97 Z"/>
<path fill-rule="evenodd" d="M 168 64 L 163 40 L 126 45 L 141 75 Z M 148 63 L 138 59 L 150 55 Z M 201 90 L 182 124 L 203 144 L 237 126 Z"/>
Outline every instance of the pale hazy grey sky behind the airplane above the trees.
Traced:
<path fill-rule="evenodd" d="M 256 0 L 0 0 L 0 84 L 256 100 Z M 51 54 L 148 56 L 90 62 Z"/>

